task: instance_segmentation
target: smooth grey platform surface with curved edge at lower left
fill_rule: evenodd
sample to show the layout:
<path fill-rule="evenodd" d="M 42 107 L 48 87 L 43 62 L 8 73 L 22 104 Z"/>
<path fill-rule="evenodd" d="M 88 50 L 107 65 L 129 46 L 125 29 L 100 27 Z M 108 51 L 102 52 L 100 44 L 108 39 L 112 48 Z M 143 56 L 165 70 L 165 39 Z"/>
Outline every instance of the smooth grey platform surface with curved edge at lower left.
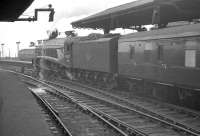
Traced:
<path fill-rule="evenodd" d="M 0 70 L 0 136 L 52 136 L 45 114 L 16 75 Z"/>

